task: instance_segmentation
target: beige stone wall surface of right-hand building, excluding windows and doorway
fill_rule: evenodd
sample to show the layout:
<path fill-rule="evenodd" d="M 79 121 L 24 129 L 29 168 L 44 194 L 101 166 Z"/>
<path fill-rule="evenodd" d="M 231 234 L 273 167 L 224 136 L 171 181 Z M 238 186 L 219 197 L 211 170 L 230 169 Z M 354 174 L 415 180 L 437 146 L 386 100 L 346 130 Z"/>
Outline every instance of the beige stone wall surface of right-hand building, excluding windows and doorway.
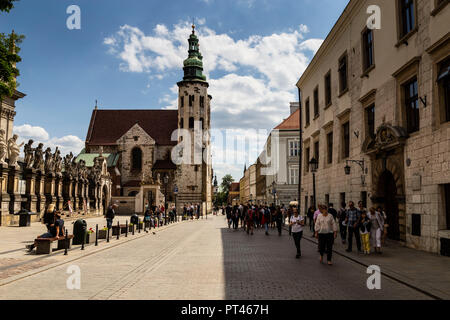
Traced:
<path fill-rule="evenodd" d="M 442 185 L 450 183 L 450 126 L 439 118 L 439 96 L 436 89 L 437 63 L 448 57 L 448 21 L 450 6 L 436 15 L 430 14 L 435 2 L 418 0 L 417 32 L 405 42 L 397 37 L 397 8 L 395 1 L 377 1 L 381 7 L 381 29 L 374 31 L 375 68 L 367 75 L 362 71 L 361 31 L 368 15 L 370 1 L 351 1 L 346 14 L 340 18 L 325 45 L 299 81 L 302 108 L 309 98 L 311 123 L 304 127 L 304 151 L 310 148 L 313 156 L 314 142 L 320 142 L 319 170 L 316 174 L 317 203 L 326 199 L 340 203 L 358 201 L 365 196 L 367 206 L 377 201 L 383 186 L 380 179 L 385 170 L 392 173 L 396 185 L 399 210 L 400 240 L 407 246 L 439 252 L 439 240 L 447 236 Z M 326 49 L 325 49 L 326 48 Z M 349 91 L 339 93 L 338 59 L 348 55 Z M 332 103 L 325 106 L 324 76 L 331 70 Z M 367 133 L 365 108 L 375 104 L 375 128 L 405 128 L 402 85 L 417 77 L 420 113 L 420 130 L 403 137 L 395 136 L 395 144 L 387 154 L 366 149 L 370 145 Z M 314 117 L 313 91 L 319 86 L 320 115 Z M 425 105 L 426 99 L 426 105 Z M 305 112 L 303 113 L 305 125 Z M 342 124 L 350 122 L 350 156 L 342 156 Z M 391 129 L 389 129 L 391 130 Z M 333 132 L 333 162 L 326 162 L 326 135 Z M 367 172 L 351 163 L 351 174 L 346 175 L 346 160 L 364 160 Z M 303 159 L 304 198 L 312 196 L 312 174 Z M 362 179 L 363 176 L 363 179 Z M 420 236 L 412 235 L 412 215 L 421 219 Z"/>

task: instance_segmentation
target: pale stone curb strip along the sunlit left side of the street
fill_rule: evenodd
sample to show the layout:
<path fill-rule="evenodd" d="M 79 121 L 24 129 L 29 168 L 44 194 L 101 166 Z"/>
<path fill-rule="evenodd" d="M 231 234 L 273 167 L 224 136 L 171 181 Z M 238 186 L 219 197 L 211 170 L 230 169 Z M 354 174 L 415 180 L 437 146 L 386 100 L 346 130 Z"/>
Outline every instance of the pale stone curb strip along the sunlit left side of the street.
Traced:
<path fill-rule="evenodd" d="M 179 221 L 176 224 L 170 224 L 168 226 L 163 226 L 161 228 L 158 228 L 157 231 L 165 231 L 165 230 L 167 230 L 167 229 L 169 229 L 171 227 L 174 227 L 174 226 L 177 226 L 179 224 L 186 223 L 186 222 L 188 222 L 188 221 Z M 152 229 L 152 230 L 155 230 L 155 229 Z M 134 241 L 134 240 L 137 240 L 137 239 L 141 239 L 141 238 L 144 238 L 146 236 L 150 236 L 150 235 L 153 234 L 153 232 L 155 232 L 155 231 L 152 231 L 152 230 L 150 230 L 149 233 L 144 233 L 142 235 L 139 235 L 139 233 L 138 234 L 135 233 L 134 237 L 131 236 L 131 233 L 129 233 L 129 237 L 127 237 L 127 238 L 125 238 L 124 235 L 121 235 L 119 242 L 116 242 L 116 243 L 113 243 L 113 244 L 111 244 L 111 242 L 110 242 L 110 244 L 107 247 L 102 247 L 102 248 L 98 247 L 97 250 L 94 250 L 92 252 L 89 252 L 89 253 L 86 253 L 86 254 L 78 254 L 77 256 L 75 256 L 73 258 L 69 258 L 67 260 L 55 262 L 55 263 L 49 264 L 47 266 L 43 266 L 43 267 L 37 268 L 35 270 L 27 271 L 25 273 L 18 274 L 18 275 L 15 275 L 15 276 L 12 276 L 12 277 L 0 280 L 0 287 L 4 286 L 4 285 L 7 285 L 7 284 L 10 284 L 12 282 L 24 279 L 24 278 L 28 278 L 28 277 L 33 276 L 35 274 L 38 274 L 38 273 L 41 273 L 41 272 L 44 272 L 44 271 L 47 271 L 47 270 L 50 270 L 50 269 L 62 266 L 64 264 L 67 264 L 67 263 L 70 263 L 70 262 L 73 262 L 73 261 L 76 261 L 76 260 L 80 260 L 80 259 L 85 258 L 85 257 L 89 257 L 89 256 L 97 254 L 99 252 L 106 251 L 106 250 L 109 250 L 111 248 L 115 248 L 115 247 L 120 246 L 122 244 L 131 242 L 131 241 Z M 152 233 L 150 233 L 150 232 L 152 232 Z M 130 236 L 132 238 L 130 238 Z M 114 239 L 114 238 L 112 238 L 112 239 Z M 122 240 L 122 239 L 127 239 L 127 240 Z M 105 243 L 106 244 L 107 242 L 106 242 L 106 240 L 103 240 L 101 243 Z M 93 245 L 89 244 L 89 245 L 86 245 L 85 248 L 89 248 L 91 246 L 93 246 Z M 93 247 L 95 248 L 95 246 L 93 246 Z M 79 252 L 83 253 L 83 251 L 81 251 L 80 248 L 81 248 L 81 246 L 76 246 L 76 248 L 70 249 L 68 252 L 74 252 L 75 250 L 78 250 Z M 59 255 L 60 256 L 63 253 L 64 253 L 64 250 L 60 250 L 59 252 L 54 253 L 53 255 Z M 49 255 L 49 256 L 52 256 L 52 255 Z"/>

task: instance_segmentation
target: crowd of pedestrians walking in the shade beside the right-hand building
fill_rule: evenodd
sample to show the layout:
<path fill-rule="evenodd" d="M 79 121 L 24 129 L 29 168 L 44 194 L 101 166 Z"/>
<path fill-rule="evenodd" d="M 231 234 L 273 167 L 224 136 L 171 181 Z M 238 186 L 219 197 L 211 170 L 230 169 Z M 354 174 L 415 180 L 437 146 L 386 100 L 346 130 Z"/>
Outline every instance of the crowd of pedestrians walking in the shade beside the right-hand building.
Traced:
<path fill-rule="evenodd" d="M 218 212 L 218 208 L 215 209 Z M 332 203 L 328 206 L 319 204 L 316 210 L 313 206 L 308 208 L 304 218 L 298 212 L 296 206 L 285 205 L 253 205 L 236 204 L 222 206 L 222 214 L 226 215 L 229 229 L 242 228 L 248 235 L 253 235 L 255 229 L 263 229 L 269 235 L 269 230 L 277 229 L 278 235 L 282 234 L 282 226 L 288 221 L 289 235 L 292 236 L 297 250 L 296 258 L 301 252 L 301 239 L 305 225 L 308 225 L 312 237 L 318 240 L 320 263 L 324 262 L 326 255 L 328 265 L 333 265 L 332 254 L 335 239 L 340 234 L 341 241 L 347 245 L 347 252 L 352 252 L 353 238 L 356 242 L 358 253 L 369 255 L 372 252 L 381 254 L 382 245 L 387 237 L 387 216 L 381 207 L 364 208 L 363 202 L 355 207 L 353 201 L 341 204 L 336 210 Z M 306 218 L 308 221 L 306 221 Z"/>

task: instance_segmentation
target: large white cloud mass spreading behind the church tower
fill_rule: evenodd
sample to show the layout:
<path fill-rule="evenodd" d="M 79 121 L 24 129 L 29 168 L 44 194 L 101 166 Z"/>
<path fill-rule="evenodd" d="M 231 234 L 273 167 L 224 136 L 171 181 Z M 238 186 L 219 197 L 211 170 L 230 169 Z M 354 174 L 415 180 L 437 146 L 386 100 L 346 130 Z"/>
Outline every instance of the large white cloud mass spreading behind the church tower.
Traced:
<path fill-rule="evenodd" d="M 238 2 L 253 5 L 253 0 Z M 234 39 L 208 28 L 204 19 L 197 21 L 204 73 L 213 96 L 212 127 L 270 130 L 279 124 L 289 115 L 289 102 L 298 100 L 295 84 L 322 40 L 306 39 L 309 29 L 305 25 L 271 35 Z M 172 27 L 157 25 L 150 34 L 123 25 L 104 44 L 120 60 L 122 71 L 145 72 L 150 79 L 161 80 L 167 71 L 182 68 L 191 24 L 186 21 Z M 225 75 L 214 76 L 216 73 Z M 176 109 L 178 88 L 167 90 L 160 103 L 166 109 Z M 215 145 L 215 162 L 226 152 L 221 152 L 221 148 Z M 261 149 L 246 150 L 245 161 L 254 161 Z M 241 174 L 244 164 L 220 163 L 214 168 L 220 177 L 227 172 Z"/>

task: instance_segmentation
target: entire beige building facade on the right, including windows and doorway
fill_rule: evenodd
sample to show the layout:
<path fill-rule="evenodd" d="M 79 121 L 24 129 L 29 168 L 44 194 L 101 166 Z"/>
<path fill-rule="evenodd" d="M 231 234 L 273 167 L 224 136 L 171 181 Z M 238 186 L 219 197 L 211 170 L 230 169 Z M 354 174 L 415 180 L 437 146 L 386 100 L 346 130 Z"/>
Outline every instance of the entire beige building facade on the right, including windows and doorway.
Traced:
<path fill-rule="evenodd" d="M 317 203 L 380 205 L 391 239 L 448 254 L 449 21 L 448 1 L 349 2 L 297 83 L 303 210 L 314 157 Z"/>

